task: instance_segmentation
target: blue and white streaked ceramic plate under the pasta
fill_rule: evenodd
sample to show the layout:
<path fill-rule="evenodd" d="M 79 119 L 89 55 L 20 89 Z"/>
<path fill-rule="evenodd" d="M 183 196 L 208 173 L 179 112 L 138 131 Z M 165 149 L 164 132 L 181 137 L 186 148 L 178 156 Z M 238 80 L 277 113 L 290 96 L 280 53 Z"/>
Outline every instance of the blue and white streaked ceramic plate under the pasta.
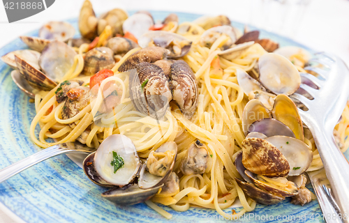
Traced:
<path fill-rule="evenodd" d="M 163 20 L 169 12 L 151 12 L 155 20 Z M 130 14 L 133 14 L 131 12 Z M 192 21 L 200 15 L 177 13 L 179 22 Z M 77 19 L 68 20 L 77 29 Z M 243 29 L 243 24 L 232 22 Z M 38 31 L 27 33 L 37 36 Z M 281 46 L 296 45 L 290 40 L 267 31 L 262 38 L 272 38 Z M 0 49 L 0 55 L 16 49 L 27 48 L 17 38 Z M 304 47 L 307 49 L 307 47 Z M 310 50 L 310 49 L 309 49 Z M 310 50 L 311 51 L 311 50 Z M 312 51 L 311 51 L 312 52 Z M 29 137 L 29 126 L 35 116 L 34 103 L 15 86 L 12 69 L 0 61 L 0 168 L 40 151 Z M 38 128 L 36 129 L 38 133 Z M 348 157 L 348 153 L 347 153 Z M 24 222 L 163 222 L 165 218 L 148 208 L 144 203 L 133 206 L 115 206 L 102 199 L 106 189 L 98 187 L 66 155 L 59 155 L 17 174 L 0 184 L 0 208 L 16 215 Z M 176 212 L 165 207 L 173 215 L 171 222 L 207 222 L 219 220 L 216 210 L 190 208 Z M 235 208 L 236 211 L 241 208 Z M 232 208 L 224 210 L 230 213 Z M 306 217 L 306 220 L 304 220 Z M 222 220 L 222 217 L 221 217 Z M 258 204 L 251 213 L 246 213 L 246 222 L 323 222 L 317 201 L 304 206 L 295 206 L 290 199 L 273 205 Z M 295 220 L 295 221 L 294 221 Z"/>

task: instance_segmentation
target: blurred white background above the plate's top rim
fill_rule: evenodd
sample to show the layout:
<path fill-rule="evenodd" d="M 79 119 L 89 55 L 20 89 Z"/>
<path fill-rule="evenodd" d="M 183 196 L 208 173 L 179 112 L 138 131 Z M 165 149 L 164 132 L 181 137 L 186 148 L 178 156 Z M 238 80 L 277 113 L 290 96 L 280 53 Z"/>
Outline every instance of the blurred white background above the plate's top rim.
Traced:
<path fill-rule="evenodd" d="M 38 29 L 50 20 L 77 17 L 83 0 L 56 0 L 37 15 L 8 24 L 0 6 L 0 47 L 14 38 Z M 182 11 L 227 15 L 230 20 L 251 24 L 288 36 L 319 51 L 332 52 L 349 64 L 348 0 L 91 0 L 96 13 L 112 8 L 126 10 Z"/>

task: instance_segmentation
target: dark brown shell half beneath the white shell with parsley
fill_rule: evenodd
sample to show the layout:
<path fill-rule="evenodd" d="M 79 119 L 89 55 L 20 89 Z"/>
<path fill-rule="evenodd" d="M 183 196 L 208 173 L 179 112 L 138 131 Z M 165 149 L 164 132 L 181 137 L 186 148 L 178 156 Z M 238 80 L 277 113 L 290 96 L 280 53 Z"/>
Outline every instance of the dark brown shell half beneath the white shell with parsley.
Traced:
<path fill-rule="evenodd" d="M 117 203 L 119 205 L 132 205 L 142 203 L 151 199 L 163 185 L 149 189 L 140 189 L 138 185 L 126 185 L 108 190 L 102 194 L 105 199 Z"/>

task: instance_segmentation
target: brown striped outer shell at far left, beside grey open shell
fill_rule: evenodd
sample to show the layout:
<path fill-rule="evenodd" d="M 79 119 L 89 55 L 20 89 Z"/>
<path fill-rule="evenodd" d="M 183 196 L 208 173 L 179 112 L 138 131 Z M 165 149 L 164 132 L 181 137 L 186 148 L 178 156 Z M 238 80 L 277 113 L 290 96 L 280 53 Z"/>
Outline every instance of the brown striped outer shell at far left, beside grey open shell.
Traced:
<path fill-rule="evenodd" d="M 26 79 L 28 84 L 30 84 L 30 86 L 34 89 L 50 91 L 57 86 L 56 82 L 44 75 L 40 70 L 37 70 L 29 63 L 21 59 L 20 56 L 15 56 L 15 61 L 22 77 Z"/>

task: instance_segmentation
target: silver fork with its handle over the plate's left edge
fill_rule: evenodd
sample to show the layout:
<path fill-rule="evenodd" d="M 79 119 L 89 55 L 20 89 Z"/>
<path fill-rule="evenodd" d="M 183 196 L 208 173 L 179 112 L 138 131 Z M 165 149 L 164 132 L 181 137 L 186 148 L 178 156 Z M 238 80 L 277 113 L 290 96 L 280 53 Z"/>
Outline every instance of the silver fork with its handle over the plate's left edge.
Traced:
<path fill-rule="evenodd" d="M 80 142 L 67 142 L 63 144 L 57 144 L 49 148 L 45 148 L 43 151 L 29 155 L 29 157 L 24 158 L 10 166 L 5 167 L 0 170 L 0 183 L 7 180 L 8 178 L 19 174 L 24 169 L 27 169 L 35 164 L 47 160 L 50 157 L 54 157 L 59 154 L 64 153 L 84 153 L 89 154 L 96 151 L 96 148 L 89 148 Z"/>

